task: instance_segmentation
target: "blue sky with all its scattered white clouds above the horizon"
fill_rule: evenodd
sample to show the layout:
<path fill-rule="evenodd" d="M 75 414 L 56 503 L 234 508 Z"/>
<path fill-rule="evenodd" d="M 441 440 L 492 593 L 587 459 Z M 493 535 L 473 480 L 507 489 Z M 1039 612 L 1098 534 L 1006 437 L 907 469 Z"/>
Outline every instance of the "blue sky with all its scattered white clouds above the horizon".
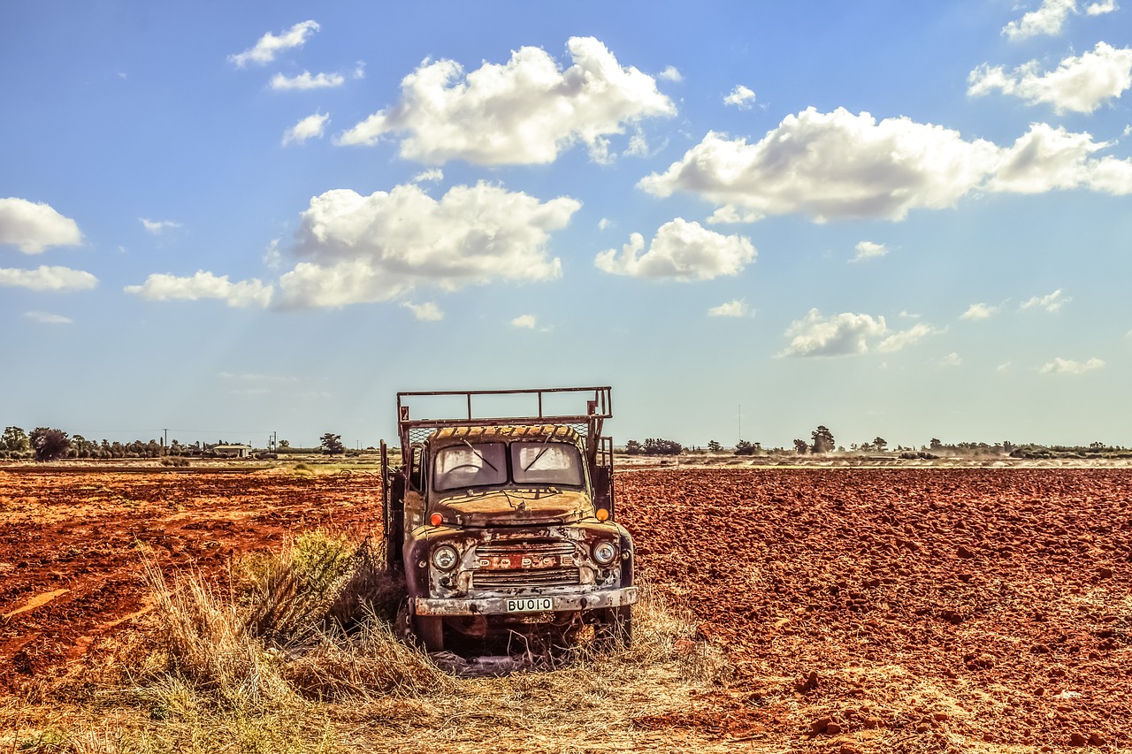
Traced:
<path fill-rule="evenodd" d="M 533 8 L 6 3 L 0 425 L 1132 445 L 1132 9 Z"/>

